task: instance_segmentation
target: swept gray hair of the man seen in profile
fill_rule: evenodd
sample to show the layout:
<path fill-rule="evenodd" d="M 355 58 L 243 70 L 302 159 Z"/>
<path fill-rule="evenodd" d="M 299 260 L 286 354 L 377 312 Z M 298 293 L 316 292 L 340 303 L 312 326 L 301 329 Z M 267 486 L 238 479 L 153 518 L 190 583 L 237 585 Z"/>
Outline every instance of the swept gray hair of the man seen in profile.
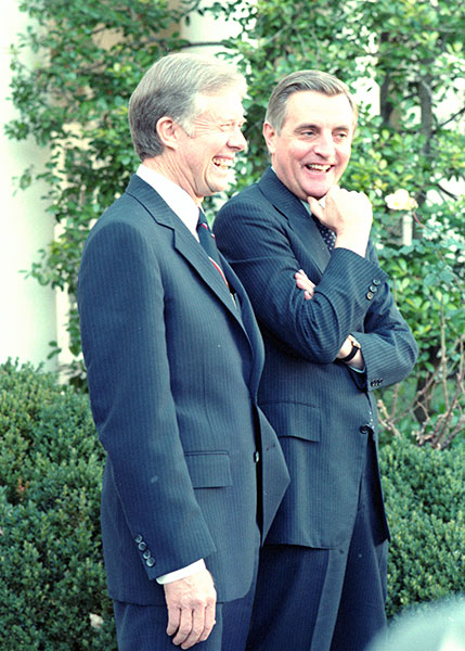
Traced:
<path fill-rule="evenodd" d="M 181 52 L 154 63 L 129 101 L 129 127 L 140 159 L 162 154 L 164 148 L 156 130 L 162 117 L 171 117 L 190 133 L 192 122 L 205 110 L 205 95 L 230 88 L 237 88 L 244 97 L 244 76 L 214 56 Z"/>

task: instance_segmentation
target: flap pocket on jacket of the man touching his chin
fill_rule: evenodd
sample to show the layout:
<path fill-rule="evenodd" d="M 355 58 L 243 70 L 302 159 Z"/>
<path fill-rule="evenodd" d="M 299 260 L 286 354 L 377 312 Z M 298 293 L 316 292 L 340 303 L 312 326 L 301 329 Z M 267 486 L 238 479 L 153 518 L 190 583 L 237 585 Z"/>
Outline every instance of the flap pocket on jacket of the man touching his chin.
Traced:
<path fill-rule="evenodd" d="M 279 437 L 320 441 L 322 412 L 319 407 L 305 403 L 282 401 L 262 403 L 260 408 Z"/>

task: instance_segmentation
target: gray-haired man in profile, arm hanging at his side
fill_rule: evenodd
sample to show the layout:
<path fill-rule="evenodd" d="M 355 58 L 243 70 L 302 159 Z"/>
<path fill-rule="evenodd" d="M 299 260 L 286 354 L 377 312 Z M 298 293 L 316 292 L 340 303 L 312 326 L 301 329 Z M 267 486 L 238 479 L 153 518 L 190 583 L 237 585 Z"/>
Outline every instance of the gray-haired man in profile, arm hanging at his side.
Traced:
<path fill-rule="evenodd" d="M 244 93 L 244 78 L 215 58 L 156 62 L 129 104 L 141 165 L 82 254 L 120 651 L 244 649 L 260 538 L 288 484 L 257 406 L 258 326 L 201 208 L 245 148 Z"/>

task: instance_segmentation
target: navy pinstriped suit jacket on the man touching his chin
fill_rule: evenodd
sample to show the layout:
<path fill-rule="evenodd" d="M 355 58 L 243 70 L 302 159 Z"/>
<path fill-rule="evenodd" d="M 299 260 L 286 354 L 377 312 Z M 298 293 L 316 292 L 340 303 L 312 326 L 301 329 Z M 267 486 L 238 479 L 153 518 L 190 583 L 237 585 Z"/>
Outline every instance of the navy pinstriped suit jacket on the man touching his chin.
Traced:
<path fill-rule="evenodd" d="M 376 436 L 373 390 L 405 378 L 415 341 L 373 244 L 366 258 L 344 248 L 330 256 L 306 207 L 271 168 L 221 208 L 214 231 L 262 330 L 259 405 L 290 473 L 268 541 L 334 548 L 351 535 L 366 437 Z M 295 285 L 300 268 L 318 285 L 311 301 Z M 335 361 L 349 333 L 362 345 L 363 374 Z"/>

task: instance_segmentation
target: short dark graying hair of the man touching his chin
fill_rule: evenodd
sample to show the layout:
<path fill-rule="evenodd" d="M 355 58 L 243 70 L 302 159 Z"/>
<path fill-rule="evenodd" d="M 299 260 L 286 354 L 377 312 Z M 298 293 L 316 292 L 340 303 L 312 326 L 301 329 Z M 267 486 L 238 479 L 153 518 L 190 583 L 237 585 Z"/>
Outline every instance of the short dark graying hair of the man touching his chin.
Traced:
<path fill-rule="evenodd" d="M 287 75 L 277 84 L 271 93 L 264 117 L 277 133 L 281 132 L 286 119 L 287 100 L 295 92 L 313 90 L 326 95 L 345 94 L 353 112 L 353 123 L 357 124 L 358 108 L 349 88 L 334 75 L 321 71 L 297 71 Z"/>

